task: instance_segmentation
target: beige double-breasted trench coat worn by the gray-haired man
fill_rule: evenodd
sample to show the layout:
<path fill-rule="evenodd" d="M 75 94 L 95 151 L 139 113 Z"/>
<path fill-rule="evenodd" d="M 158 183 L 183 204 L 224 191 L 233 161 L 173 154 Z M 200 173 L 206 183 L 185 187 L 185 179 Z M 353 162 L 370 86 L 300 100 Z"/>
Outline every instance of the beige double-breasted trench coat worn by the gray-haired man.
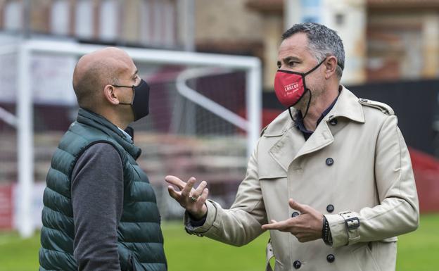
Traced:
<path fill-rule="evenodd" d="M 233 206 L 207 201 L 205 224 L 191 227 L 186 216 L 186 229 L 242 246 L 267 221 L 291 218 L 288 198 L 326 216 L 333 245 L 273 230 L 267 259 L 274 254 L 274 270 L 395 270 L 396 236 L 418 227 L 419 203 L 393 110 L 343 88 L 307 141 L 281 113 L 262 133 Z"/>

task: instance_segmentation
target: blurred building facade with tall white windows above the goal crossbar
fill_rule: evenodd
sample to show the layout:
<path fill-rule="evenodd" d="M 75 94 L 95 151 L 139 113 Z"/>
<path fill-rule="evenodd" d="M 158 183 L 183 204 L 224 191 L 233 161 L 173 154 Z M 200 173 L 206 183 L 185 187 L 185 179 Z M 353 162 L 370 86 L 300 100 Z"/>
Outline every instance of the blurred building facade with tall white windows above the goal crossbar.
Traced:
<path fill-rule="evenodd" d="M 192 27 L 186 16 L 193 14 L 188 2 L 1 0 L 0 29 L 79 42 L 191 49 L 187 30 Z"/>

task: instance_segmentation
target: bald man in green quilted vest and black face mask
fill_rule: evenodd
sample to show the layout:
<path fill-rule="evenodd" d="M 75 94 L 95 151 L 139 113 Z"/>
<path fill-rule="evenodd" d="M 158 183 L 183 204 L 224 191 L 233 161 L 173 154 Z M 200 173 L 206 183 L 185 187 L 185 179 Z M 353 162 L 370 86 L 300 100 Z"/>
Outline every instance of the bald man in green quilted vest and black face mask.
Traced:
<path fill-rule="evenodd" d="M 125 132 L 148 115 L 149 86 L 125 51 L 79 59 L 79 112 L 46 178 L 39 270 L 167 270 L 154 191 Z"/>

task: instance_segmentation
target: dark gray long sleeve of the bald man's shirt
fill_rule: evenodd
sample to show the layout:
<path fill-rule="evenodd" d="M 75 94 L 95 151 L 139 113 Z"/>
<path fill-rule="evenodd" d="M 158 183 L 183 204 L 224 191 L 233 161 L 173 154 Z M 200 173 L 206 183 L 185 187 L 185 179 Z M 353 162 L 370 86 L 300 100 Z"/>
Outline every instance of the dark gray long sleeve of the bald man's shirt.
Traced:
<path fill-rule="evenodd" d="M 114 146 L 98 143 L 79 157 L 72 171 L 78 270 L 120 270 L 117 224 L 122 215 L 122 160 Z"/>

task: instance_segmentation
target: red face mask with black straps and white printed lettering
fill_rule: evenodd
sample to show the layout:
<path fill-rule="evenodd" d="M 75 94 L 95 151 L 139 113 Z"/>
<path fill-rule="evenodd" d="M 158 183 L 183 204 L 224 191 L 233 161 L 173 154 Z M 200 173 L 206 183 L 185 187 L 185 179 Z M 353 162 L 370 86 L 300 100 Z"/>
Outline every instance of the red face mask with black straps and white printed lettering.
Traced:
<path fill-rule="evenodd" d="M 306 87 L 305 76 L 314 72 L 325 60 L 326 58 L 306 73 L 277 70 L 274 78 L 274 92 L 276 92 L 277 99 L 288 108 L 298 103 L 305 92 L 310 92 L 310 89 Z"/>

